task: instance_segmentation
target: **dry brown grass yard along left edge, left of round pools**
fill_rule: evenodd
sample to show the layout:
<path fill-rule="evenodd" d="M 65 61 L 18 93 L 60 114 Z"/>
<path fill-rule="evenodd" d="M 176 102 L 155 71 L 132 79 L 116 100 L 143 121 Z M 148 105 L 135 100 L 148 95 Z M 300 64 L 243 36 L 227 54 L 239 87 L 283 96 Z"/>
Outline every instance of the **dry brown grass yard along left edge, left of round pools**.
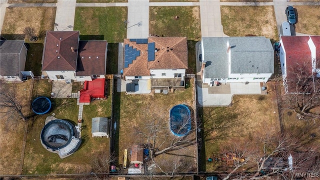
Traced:
<path fill-rule="evenodd" d="M 22 112 L 29 115 L 31 80 L 23 83 L 1 84 L 8 88 L 16 89 L 16 99 L 22 105 Z M 1 107 L 1 111 L 5 111 Z M 0 174 L 19 174 L 21 165 L 21 153 L 23 152 L 23 138 L 25 122 L 16 113 L 0 114 Z"/>

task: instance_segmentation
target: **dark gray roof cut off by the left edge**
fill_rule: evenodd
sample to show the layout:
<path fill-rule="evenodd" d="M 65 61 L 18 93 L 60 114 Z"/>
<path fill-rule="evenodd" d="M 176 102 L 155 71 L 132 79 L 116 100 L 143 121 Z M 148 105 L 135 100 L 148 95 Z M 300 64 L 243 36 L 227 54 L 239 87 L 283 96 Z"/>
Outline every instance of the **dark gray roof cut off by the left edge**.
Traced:
<path fill-rule="evenodd" d="M 0 74 L 16 76 L 20 72 L 20 52 L 24 40 L 0 40 Z"/>

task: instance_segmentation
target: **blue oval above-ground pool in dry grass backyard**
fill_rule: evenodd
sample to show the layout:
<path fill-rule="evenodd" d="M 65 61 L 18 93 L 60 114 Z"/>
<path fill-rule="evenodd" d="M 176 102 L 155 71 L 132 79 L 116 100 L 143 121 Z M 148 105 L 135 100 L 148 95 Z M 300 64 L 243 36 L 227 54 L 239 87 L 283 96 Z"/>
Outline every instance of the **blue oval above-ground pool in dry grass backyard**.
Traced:
<path fill-rule="evenodd" d="M 184 136 L 191 129 L 190 110 L 186 105 L 178 104 L 170 109 L 170 130 L 176 136 Z"/>

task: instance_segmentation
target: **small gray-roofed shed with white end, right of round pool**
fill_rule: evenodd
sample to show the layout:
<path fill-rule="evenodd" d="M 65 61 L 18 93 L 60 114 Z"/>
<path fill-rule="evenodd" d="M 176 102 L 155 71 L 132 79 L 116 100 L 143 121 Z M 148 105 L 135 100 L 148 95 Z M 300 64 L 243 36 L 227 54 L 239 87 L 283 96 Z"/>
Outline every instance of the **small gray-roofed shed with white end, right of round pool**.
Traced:
<path fill-rule="evenodd" d="M 109 137 L 110 120 L 107 117 L 93 117 L 91 124 L 92 137 Z"/>

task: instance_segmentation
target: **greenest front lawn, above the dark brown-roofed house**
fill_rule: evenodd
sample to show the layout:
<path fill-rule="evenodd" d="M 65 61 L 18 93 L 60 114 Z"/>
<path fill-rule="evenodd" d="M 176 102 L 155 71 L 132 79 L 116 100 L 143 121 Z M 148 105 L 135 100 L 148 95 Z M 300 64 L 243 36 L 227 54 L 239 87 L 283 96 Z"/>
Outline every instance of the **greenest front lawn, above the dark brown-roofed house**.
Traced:
<path fill-rule="evenodd" d="M 73 29 L 80 31 L 80 40 L 123 42 L 126 18 L 127 7 L 76 7 Z"/>

